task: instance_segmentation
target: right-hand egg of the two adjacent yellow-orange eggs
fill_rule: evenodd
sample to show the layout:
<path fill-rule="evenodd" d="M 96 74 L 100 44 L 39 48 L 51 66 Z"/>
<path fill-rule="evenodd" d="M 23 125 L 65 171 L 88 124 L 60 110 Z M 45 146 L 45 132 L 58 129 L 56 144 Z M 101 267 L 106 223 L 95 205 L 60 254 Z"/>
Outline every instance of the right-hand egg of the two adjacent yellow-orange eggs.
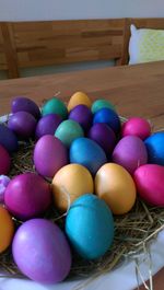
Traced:
<path fill-rule="evenodd" d="M 95 193 L 106 201 L 114 214 L 128 212 L 137 195 L 131 175 L 115 163 L 106 163 L 97 171 Z"/>

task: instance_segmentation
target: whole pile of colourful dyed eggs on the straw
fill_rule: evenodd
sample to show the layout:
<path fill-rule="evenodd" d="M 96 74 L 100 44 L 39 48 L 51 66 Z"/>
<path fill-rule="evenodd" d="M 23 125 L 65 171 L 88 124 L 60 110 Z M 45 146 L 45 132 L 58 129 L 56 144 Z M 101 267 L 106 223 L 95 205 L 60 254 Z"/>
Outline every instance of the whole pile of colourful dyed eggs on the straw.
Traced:
<path fill-rule="evenodd" d="M 164 206 L 164 132 L 151 135 L 145 119 L 121 125 L 113 104 L 92 103 L 82 92 L 68 106 L 52 97 L 42 112 L 32 100 L 15 97 L 11 112 L 8 124 L 0 124 L 0 253 L 12 245 L 30 279 L 63 280 L 71 248 L 84 259 L 102 257 L 113 243 L 113 214 L 130 211 L 137 193 Z M 19 140 L 30 138 L 36 173 L 10 181 L 11 155 Z M 51 204 L 67 212 L 65 232 L 42 216 Z M 17 229 L 12 217 L 23 221 Z"/>

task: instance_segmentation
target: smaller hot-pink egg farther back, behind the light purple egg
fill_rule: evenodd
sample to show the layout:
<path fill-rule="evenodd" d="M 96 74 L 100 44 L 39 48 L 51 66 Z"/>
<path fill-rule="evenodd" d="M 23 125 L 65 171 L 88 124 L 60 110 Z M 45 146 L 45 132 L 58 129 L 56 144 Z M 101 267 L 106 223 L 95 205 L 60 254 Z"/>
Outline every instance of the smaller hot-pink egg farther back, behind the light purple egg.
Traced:
<path fill-rule="evenodd" d="M 128 135 L 138 136 L 140 139 L 144 140 L 151 135 L 151 126 L 144 118 L 129 118 L 121 127 L 121 136 L 125 137 Z"/>

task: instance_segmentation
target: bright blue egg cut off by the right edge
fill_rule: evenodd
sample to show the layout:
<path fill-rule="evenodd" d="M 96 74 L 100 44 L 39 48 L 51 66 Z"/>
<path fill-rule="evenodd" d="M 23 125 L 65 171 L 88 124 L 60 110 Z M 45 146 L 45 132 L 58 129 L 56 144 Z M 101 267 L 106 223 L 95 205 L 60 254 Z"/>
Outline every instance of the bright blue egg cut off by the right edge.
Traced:
<path fill-rule="evenodd" d="M 148 162 L 164 165 L 164 131 L 155 132 L 144 140 Z"/>

